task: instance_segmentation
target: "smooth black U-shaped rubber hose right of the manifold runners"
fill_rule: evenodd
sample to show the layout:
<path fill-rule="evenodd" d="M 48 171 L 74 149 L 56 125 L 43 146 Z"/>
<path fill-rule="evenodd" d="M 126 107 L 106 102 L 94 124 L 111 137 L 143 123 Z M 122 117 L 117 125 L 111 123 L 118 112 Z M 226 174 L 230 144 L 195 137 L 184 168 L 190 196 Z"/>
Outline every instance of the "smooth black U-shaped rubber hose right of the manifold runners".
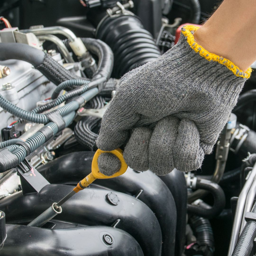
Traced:
<path fill-rule="evenodd" d="M 212 218 L 219 215 L 226 204 L 225 194 L 221 186 L 210 180 L 198 179 L 195 189 L 205 189 L 210 192 L 214 197 L 214 204 L 211 209 L 188 204 L 188 213 L 204 218 Z"/>

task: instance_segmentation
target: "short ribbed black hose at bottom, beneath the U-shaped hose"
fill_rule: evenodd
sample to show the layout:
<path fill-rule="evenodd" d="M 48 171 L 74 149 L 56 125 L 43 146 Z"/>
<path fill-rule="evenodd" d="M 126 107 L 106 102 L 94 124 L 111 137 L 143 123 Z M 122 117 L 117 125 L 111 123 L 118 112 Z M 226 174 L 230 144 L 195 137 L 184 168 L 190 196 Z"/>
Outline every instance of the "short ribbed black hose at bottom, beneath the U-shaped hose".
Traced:
<path fill-rule="evenodd" d="M 198 255 L 212 256 L 214 253 L 214 237 L 212 227 L 208 219 L 192 216 L 189 218 L 189 224 L 196 236 L 196 250 Z M 200 253 L 199 253 L 200 252 Z"/>

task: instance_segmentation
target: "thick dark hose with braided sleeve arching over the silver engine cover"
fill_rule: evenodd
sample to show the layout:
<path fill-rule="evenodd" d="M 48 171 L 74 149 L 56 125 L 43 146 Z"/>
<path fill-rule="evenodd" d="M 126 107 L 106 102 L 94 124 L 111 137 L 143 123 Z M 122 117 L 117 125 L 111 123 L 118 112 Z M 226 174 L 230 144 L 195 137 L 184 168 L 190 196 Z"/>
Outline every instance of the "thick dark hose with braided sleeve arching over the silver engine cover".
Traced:
<path fill-rule="evenodd" d="M 1 43 L 0 52 L 0 61 L 17 59 L 29 62 L 35 67 L 35 69 L 39 70 L 44 76 L 46 76 L 49 81 L 56 85 L 70 79 L 88 80 L 87 78 L 74 75 L 69 70 L 66 70 L 58 64 L 58 62 L 49 54 L 27 44 Z"/>

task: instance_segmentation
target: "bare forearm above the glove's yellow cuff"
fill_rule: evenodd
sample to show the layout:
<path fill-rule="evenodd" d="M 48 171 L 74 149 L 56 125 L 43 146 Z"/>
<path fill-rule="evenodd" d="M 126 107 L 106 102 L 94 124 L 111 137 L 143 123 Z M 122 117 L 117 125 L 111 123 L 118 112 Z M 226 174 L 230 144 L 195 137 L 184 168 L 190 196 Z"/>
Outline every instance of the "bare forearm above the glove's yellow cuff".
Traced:
<path fill-rule="evenodd" d="M 195 41 L 247 70 L 256 60 L 256 1 L 224 0 L 198 29 Z"/>

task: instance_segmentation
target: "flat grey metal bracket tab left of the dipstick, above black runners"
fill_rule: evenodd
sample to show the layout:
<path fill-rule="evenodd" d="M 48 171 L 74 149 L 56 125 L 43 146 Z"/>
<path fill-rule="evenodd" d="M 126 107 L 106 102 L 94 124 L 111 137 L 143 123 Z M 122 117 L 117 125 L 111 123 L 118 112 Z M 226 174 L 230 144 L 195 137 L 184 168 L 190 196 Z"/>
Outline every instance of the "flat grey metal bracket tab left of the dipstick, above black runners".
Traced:
<path fill-rule="evenodd" d="M 26 158 L 17 166 L 22 192 L 24 194 L 39 192 L 50 183 L 29 163 Z"/>

